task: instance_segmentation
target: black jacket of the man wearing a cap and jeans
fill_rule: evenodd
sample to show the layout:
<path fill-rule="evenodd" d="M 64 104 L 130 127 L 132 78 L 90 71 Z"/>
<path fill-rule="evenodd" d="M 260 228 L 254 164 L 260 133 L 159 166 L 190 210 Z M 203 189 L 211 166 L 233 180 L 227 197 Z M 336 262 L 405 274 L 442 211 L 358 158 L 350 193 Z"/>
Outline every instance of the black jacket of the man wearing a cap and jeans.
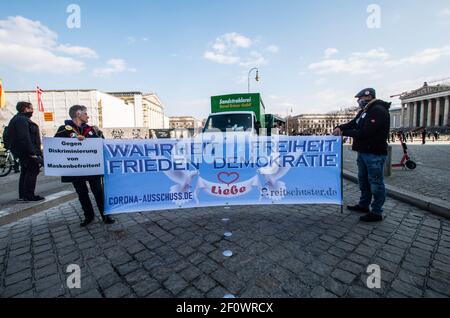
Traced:
<path fill-rule="evenodd" d="M 339 126 L 342 135 L 353 138 L 352 149 L 361 153 L 387 155 L 391 103 L 375 99 L 347 124 Z"/>

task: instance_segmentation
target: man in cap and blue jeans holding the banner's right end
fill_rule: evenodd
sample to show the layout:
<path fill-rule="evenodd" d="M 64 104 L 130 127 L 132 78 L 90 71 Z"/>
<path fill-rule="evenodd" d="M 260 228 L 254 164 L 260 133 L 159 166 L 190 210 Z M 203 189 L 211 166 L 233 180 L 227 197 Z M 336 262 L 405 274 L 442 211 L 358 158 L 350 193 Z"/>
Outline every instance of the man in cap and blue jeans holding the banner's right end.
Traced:
<path fill-rule="evenodd" d="M 383 205 L 386 201 L 384 163 L 387 157 L 391 103 L 376 99 L 373 88 L 366 88 L 355 97 L 358 98 L 361 111 L 349 123 L 338 126 L 333 135 L 352 137 L 352 149 L 358 152 L 361 198 L 359 204 L 347 208 L 367 213 L 360 218 L 363 222 L 378 222 L 383 220 Z M 369 209 L 370 205 L 372 211 Z"/>

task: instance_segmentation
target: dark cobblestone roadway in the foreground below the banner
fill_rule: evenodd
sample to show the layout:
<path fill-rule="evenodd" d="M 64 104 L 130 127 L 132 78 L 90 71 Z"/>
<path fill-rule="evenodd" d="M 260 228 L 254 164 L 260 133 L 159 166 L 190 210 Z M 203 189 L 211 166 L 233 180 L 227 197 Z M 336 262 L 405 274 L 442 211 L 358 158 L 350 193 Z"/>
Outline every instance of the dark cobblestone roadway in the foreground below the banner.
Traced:
<path fill-rule="evenodd" d="M 357 186 L 345 193 L 355 202 Z M 82 229 L 71 201 L 0 227 L 0 296 L 450 297 L 450 221 L 392 199 L 386 210 L 378 224 L 317 205 L 127 214 Z M 66 286 L 69 264 L 81 289 Z M 381 289 L 366 287 L 369 264 Z"/>

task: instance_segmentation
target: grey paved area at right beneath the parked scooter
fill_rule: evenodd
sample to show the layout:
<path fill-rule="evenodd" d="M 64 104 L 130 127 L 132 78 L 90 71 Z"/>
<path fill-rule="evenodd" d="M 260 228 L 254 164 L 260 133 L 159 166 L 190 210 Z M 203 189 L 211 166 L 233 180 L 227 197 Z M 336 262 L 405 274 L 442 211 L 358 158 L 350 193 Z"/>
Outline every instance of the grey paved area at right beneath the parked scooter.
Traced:
<path fill-rule="evenodd" d="M 356 152 L 345 146 L 344 168 L 357 172 Z M 445 201 L 450 200 L 450 144 L 408 144 L 408 153 L 417 163 L 415 170 L 392 168 L 386 183 L 414 193 Z M 403 156 L 400 145 L 393 145 L 392 163 Z"/>

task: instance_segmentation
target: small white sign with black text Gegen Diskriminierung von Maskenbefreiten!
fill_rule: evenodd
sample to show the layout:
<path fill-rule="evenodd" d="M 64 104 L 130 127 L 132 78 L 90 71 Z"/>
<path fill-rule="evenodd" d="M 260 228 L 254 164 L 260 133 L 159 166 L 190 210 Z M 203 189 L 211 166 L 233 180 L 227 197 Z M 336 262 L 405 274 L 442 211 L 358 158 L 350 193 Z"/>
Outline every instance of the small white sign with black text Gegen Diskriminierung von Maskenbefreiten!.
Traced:
<path fill-rule="evenodd" d="M 46 176 L 95 176 L 102 175 L 103 139 L 74 138 L 43 139 L 44 169 Z"/>

